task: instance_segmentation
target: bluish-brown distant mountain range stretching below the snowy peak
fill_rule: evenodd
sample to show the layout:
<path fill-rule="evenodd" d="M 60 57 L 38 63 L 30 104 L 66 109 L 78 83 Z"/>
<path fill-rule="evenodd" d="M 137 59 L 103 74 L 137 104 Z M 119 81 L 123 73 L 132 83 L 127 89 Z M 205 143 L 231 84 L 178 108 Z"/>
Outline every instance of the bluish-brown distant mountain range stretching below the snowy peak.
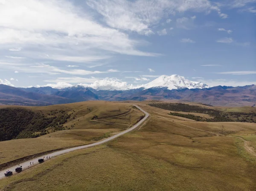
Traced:
<path fill-rule="evenodd" d="M 168 78 L 169 79 L 169 78 Z M 150 84 L 150 83 L 148 83 Z M 178 100 L 198 102 L 216 106 L 255 106 L 256 86 L 216 86 L 203 88 L 207 85 L 187 83 L 186 86 L 202 88 L 169 89 L 172 86 L 163 84 L 157 87 L 147 86 L 130 90 L 95 90 L 84 86 L 55 89 L 51 87 L 15 88 L 0 84 L 0 104 L 3 105 L 52 105 L 74 103 L 87 100 Z M 168 86 L 166 86 L 168 85 Z M 178 85 L 178 84 L 177 84 Z M 183 86 L 183 85 L 182 85 Z M 150 88 L 148 88 L 150 87 Z"/>

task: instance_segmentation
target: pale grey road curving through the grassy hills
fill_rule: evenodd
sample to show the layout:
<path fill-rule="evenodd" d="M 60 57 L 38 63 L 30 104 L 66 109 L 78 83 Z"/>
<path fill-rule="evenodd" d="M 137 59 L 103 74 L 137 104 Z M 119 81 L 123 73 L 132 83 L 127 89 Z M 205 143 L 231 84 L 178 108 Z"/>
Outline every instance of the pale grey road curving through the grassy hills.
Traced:
<path fill-rule="evenodd" d="M 112 137 L 108 137 L 107 139 L 102 140 L 102 141 L 99 141 L 99 142 L 97 142 L 97 143 L 92 143 L 92 144 L 89 144 L 89 145 L 83 145 L 83 146 L 78 146 L 78 147 L 74 147 L 74 148 L 68 148 L 68 149 L 61 150 L 61 151 L 56 151 L 56 152 L 54 152 L 54 153 L 47 154 L 47 155 L 43 155 L 43 156 L 38 157 L 38 158 L 44 158 L 44 160 L 47 160 L 47 158 L 48 158 L 49 156 L 52 158 L 52 157 L 56 157 L 56 156 L 58 156 L 58 155 L 66 154 L 66 153 L 69 153 L 69 152 L 71 152 L 71 151 L 76 151 L 76 150 L 79 150 L 79 149 L 82 149 L 82 148 L 89 148 L 89 147 L 101 145 L 101 144 L 103 144 L 103 143 L 107 143 L 108 141 L 111 141 L 111 140 L 115 139 L 116 137 L 119 137 L 119 136 L 121 136 L 121 135 L 123 135 L 123 134 L 125 134 L 125 133 L 128 133 L 128 132 L 134 130 L 134 129 L 137 128 L 139 125 L 141 125 L 141 124 L 148 118 L 148 116 L 149 116 L 148 112 L 144 111 L 142 108 L 140 108 L 140 107 L 137 106 L 137 105 L 134 105 L 134 106 L 136 106 L 137 108 L 139 108 L 140 111 L 142 111 L 142 112 L 145 114 L 145 117 L 144 117 L 142 120 L 140 120 L 137 124 L 135 124 L 134 126 L 132 126 L 131 128 L 128 128 L 128 129 L 126 129 L 125 131 L 120 132 L 119 134 L 113 135 Z M 26 161 L 26 162 L 23 162 L 23 163 L 20 163 L 20 165 L 22 166 L 23 169 L 30 168 L 30 167 L 33 166 L 33 164 L 34 164 L 34 165 L 35 165 L 35 164 L 38 164 L 38 158 L 33 159 L 33 160 L 29 160 L 29 161 Z M 49 160 L 49 159 L 48 159 L 48 160 Z M 3 179 L 3 178 L 5 177 L 5 176 L 4 176 L 4 173 L 5 173 L 6 171 L 8 171 L 8 170 L 9 170 L 9 171 L 12 171 L 14 174 L 16 174 L 16 173 L 15 173 L 15 168 L 17 168 L 17 167 L 18 167 L 18 164 L 15 165 L 15 166 L 13 166 L 13 167 L 7 168 L 7 169 L 5 169 L 5 170 L 3 170 L 3 171 L 0 171 L 0 179 Z"/>

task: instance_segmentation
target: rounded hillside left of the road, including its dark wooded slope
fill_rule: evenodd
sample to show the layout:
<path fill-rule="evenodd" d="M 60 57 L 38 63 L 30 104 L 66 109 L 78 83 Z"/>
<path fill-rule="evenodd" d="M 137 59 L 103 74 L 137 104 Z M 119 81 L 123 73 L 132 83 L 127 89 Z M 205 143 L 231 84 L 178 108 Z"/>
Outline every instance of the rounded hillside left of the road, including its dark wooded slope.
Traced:
<path fill-rule="evenodd" d="M 0 137 L 13 135 L 7 136 L 8 141 L 0 141 L 0 148 L 4 148 L 0 151 L 0 168 L 5 162 L 26 156 L 104 139 L 125 130 L 143 115 L 129 103 L 105 101 L 38 107 L 3 105 L 0 111 L 4 120 L 0 127 L 5 127 Z M 92 120 L 94 116 L 98 119 Z"/>

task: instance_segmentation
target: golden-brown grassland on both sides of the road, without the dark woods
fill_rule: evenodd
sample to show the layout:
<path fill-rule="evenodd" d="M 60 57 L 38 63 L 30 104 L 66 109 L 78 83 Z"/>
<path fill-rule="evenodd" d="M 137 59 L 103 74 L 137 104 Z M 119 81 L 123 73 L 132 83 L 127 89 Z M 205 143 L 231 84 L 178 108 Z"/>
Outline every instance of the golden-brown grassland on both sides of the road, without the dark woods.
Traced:
<path fill-rule="evenodd" d="M 131 103 L 150 114 L 137 130 L 105 145 L 73 151 L 0 180 L 0 190 L 256 190 L 255 123 L 196 121 L 170 115 L 169 109 L 148 105 L 154 103 L 152 101 L 84 102 L 47 106 L 49 110 L 47 107 L 33 108 L 42 113 L 56 107 L 68 112 L 75 110 L 75 119 L 71 118 L 65 125 L 76 125 L 70 130 L 55 131 L 33 139 L 0 142 L 0 152 L 4 153 L 0 156 L 7 157 L 1 160 L 8 162 L 33 153 L 95 141 L 93 137 L 108 136 L 108 132 L 114 134 L 128 128 L 143 115 L 131 107 Z M 221 112 L 254 112 L 247 108 L 192 105 Z M 84 111 L 84 107 L 91 108 L 91 111 Z M 191 112 L 203 117 L 209 115 Z M 91 120 L 94 116 L 97 117 Z M 37 146 L 32 146 L 35 140 L 38 142 L 33 144 Z M 26 147 L 29 147 L 28 151 Z M 8 156 L 9 149 L 16 149 L 19 156 L 15 157 L 15 152 Z"/>

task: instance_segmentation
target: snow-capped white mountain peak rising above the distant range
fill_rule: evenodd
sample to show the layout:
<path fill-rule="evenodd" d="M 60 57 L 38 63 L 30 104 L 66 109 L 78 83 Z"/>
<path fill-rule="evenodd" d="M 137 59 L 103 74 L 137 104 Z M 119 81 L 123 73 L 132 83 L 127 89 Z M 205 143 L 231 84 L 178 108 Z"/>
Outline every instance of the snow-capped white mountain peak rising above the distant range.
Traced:
<path fill-rule="evenodd" d="M 179 75 L 162 75 L 150 83 L 139 86 L 145 89 L 153 87 L 167 87 L 169 90 L 172 89 L 183 89 L 183 88 L 209 88 L 207 84 L 201 82 L 193 82 Z"/>

